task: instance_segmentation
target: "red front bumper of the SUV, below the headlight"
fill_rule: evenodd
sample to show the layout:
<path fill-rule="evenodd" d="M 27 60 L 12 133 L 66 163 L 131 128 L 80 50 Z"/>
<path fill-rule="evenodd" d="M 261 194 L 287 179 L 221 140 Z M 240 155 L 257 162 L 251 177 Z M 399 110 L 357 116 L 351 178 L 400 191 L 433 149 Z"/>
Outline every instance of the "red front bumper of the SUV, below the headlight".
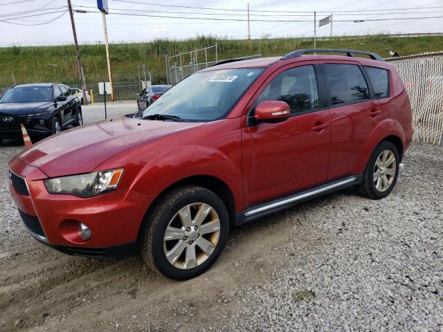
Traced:
<path fill-rule="evenodd" d="M 125 189 L 89 199 L 49 194 L 43 183 L 46 175 L 40 169 L 17 158 L 9 166 L 24 181 L 20 186 L 17 178 L 11 178 L 10 192 L 26 230 L 35 239 L 70 255 L 118 257 L 119 250 L 133 251 L 151 203 L 147 196 Z M 92 232 L 89 241 L 80 237 L 80 222 Z"/>

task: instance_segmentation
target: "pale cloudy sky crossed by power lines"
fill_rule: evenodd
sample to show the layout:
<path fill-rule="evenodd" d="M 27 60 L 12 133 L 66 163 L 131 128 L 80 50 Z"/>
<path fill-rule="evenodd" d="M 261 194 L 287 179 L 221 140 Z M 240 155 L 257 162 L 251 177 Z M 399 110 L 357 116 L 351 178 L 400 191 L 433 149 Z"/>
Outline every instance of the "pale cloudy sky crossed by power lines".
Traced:
<path fill-rule="evenodd" d="M 87 13 L 74 14 L 78 42 L 102 43 L 102 15 L 97 10 L 96 1 L 72 0 L 72 3 L 74 9 L 87 10 Z M 112 43 L 147 42 L 156 38 L 186 39 L 197 35 L 248 37 L 248 3 L 243 1 L 108 0 L 108 4 L 106 19 L 109 42 Z M 72 44 L 66 6 L 66 0 L 0 0 L 0 46 Z M 254 39 L 311 37 L 314 35 L 314 10 L 318 12 L 316 35 L 319 37 L 330 34 L 329 24 L 318 27 L 318 20 L 330 13 L 333 35 L 443 33 L 443 0 L 250 0 L 249 9 L 250 33 Z M 49 22 L 51 20 L 54 21 Z M 354 23 L 355 20 L 363 22 Z"/>

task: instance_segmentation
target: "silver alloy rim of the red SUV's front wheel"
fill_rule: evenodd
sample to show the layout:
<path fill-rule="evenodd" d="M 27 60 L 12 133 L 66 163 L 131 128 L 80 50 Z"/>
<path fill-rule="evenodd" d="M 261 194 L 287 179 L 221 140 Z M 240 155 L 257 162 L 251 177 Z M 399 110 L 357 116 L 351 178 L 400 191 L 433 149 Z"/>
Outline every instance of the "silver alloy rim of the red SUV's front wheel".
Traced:
<path fill-rule="evenodd" d="M 195 268 L 213 253 L 220 236 L 220 220 L 215 209 L 206 203 L 192 203 L 181 208 L 166 228 L 163 250 L 172 266 Z"/>

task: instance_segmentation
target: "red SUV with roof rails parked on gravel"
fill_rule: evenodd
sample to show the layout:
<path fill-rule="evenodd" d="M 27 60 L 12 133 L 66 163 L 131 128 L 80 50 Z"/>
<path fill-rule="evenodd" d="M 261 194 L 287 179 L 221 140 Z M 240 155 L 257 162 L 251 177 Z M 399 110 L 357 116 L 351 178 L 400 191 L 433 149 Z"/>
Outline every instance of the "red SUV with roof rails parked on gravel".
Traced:
<path fill-rule="evenodd" d="M 38 241 L 89 257 L 140 250 L 163 275 L 188 279 L 219 257 L 230 224 L 345 187 L 386 197 L 411 118 L 394 67 L 374 53 L 231 60 L 179 82 L 142 118 L 23 151 L 9 163 L 10 190 Z"/>

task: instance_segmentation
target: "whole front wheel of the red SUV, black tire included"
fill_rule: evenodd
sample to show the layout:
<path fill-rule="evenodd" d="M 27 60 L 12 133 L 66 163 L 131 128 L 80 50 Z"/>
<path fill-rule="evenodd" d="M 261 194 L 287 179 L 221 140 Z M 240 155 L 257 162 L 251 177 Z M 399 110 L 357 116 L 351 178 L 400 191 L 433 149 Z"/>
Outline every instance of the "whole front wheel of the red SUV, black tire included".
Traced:
<path fill-rule="evenodd" d="M 229 217 L 224 203 L 210 190 L 197 186 L 178 188 L 159 202 L 147 214 L 141 229 L 143 259 L 157 273 L 174 280 L 204 273 L 217 260 L 228 239 Z M 203 211 L 206 213 L 202 216 L 206 217 L 199 221 L 197 214 Z M 190 212 L 190 219 L 186 212 Z M 165 240 L 166 234 L 170 239 Z"/>

